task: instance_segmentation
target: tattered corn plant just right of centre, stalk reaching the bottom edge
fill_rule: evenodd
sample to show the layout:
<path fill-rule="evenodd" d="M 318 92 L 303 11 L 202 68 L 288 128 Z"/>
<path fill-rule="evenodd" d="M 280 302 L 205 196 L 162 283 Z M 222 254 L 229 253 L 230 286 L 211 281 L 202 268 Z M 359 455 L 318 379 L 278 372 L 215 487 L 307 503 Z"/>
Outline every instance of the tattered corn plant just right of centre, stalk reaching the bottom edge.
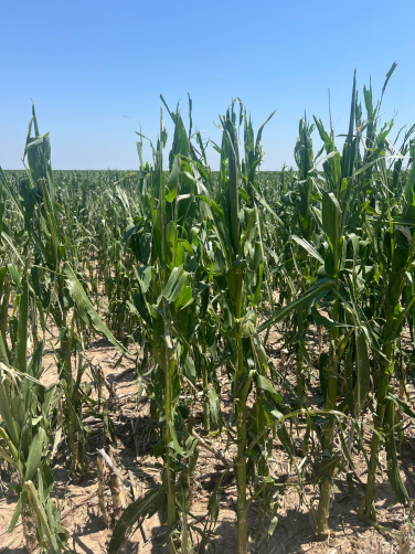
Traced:
<path fill-rule="evenodd" d="M 221 117 L 223 129 L 221 148 L 221 189 L 220 204 L 212 212 L 217 238 L 221 241 L 220 253 L 223 256 L 223 271 L 219 278 L 223 296 L 224 326 L 232 351 L 232 385 L 235 402 L 235 423 L 237 435 L 237 460 L 235 467 L 237 486 L 237 552 L 246 552 L 247 545 L 247 458 L 246 451 L 252 441 L 247 435 L 247 397 L 255 382 L 267 386 L 264 375 L 264 351 L 254 335 L 255 312 L 253 307 L 260 300 L 264 260 L 258 242 L 258 212 L 253 205 L 255 192 L 255 169 L 260 162 L 260 131 L 256 149 L 251 148 L 251 159 L 245 159 L 249 201 L 246 207 L 241 205 L 241 161 L 238 155 L 238 137 L 234 104 L 225 117 Z M 242 117 L 240 118 L 241 121 Z M 249 121 L 251 124 L 251 121 Z M 251 132 L 247 132 L 251 131 Z M 253 139 L 252 125 L 245 127 L 245 143 Z M 253 140 L 252 140 L 253 142 Z M 251 205 L 249 205 L 251 204 Z M 213 205 L 213 204 L 211 204 Z M 217 213 L 217 215 L 216 215 Z M 241 215 L 243 220 L 241 221 Z M 266 366 L 266 363 L 265 363 Z M 274 393 L 269 385 L 270 394 Z M 268 391 L 269 392 L 269 391 Z M 262 428 L 268 419 L 260 402 L 256 407 L 256 422 Z M 257 433 L 254 430 L 256 438 Z M 248 448 L 248 450 L 247 450 Z M 266 476 L 264 476 L 266 477 Z M 266 483 L 266 481 L 265 481 Z"/>

